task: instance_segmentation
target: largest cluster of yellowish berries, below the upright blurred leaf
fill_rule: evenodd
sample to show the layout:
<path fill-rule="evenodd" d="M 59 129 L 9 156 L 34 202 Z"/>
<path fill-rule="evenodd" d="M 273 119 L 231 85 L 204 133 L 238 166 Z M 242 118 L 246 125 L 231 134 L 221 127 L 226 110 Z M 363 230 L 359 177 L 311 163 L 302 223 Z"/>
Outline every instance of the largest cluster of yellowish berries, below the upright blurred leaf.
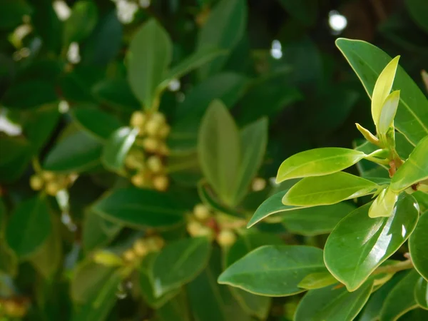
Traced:
<path fill-rule="evenodd" d="M 125 165 L 134 171 L 131 182 L 138 188 L 165 191 L 169 179 L 165 174 L 165 157 L 169 150 L 165 144 L 170 127 L 162 113 L 135 111 L 131 126 L 138 128 L 135 146 L 126 156 Z"/>

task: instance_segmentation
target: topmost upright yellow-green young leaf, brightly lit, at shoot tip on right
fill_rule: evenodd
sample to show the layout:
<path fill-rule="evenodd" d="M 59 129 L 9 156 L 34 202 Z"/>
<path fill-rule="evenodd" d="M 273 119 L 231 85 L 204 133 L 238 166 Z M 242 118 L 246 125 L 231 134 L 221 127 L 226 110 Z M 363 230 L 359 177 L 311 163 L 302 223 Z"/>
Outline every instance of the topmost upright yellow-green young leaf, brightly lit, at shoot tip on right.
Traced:
<path fill-rule="evenodd" d="M 399 56 L 389 61 L 387 66 L 379 74 L 376 83 L 374 84 L 372 93 L 372 118 L 374 125 L 379 130 L 379 118 L 382 113 L 384 103 L 389 96 L 394 83 L 395 73 L 397 72 Z"/>

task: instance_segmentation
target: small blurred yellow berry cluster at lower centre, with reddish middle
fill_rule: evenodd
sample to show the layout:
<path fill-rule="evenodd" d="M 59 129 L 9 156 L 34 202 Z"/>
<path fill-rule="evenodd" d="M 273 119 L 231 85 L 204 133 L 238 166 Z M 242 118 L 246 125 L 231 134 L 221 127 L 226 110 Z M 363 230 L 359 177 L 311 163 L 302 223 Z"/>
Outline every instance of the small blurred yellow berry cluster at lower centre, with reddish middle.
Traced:
<path fill-rule="evenodd" d="M 196 238 L 207 236 L 217 241 L 221 247 L 229 247 L 236 241 L 236 234 L 231 228 L 225 228 L 215 219 L 214 213 L 204 204 L 195 205 L 187 225 L 190 236 Z"/>

